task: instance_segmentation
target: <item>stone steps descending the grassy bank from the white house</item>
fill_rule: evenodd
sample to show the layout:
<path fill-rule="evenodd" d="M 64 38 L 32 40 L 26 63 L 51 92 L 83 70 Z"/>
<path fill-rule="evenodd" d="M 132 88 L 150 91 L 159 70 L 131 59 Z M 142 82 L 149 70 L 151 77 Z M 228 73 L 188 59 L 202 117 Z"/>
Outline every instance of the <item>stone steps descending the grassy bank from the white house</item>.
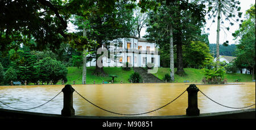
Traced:
<path fill-rule="evenodd" d="M 151 73 L 147 73 L 147 70 L 144 68 L 134 67 L 133 70 L 142 76 L 144 83 L 164 83 L 162 80 L 158 79 L 158 77 L 152 75 Z"/>

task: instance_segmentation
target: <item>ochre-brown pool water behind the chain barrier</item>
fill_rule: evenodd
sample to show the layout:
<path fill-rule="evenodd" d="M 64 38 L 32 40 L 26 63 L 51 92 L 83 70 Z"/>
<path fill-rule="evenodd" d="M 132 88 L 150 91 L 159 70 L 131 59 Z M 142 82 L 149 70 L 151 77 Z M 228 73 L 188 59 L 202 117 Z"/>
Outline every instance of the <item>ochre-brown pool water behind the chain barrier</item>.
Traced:
<path fill-rule="evenodd" d="M 187 83 L 186 83 L 187 84 Z M 82 96 L 97 106 L 122 114 L 139 114 L 158 109 L 179 96 L 188 88 L 185 83 L 158 84 L 98 84 L 72 85 Z M 197 85 L 197 87 L 214 101 L 230 107 L 245 107 L 255 103 L 255 82 L 240 85 Z M 18 109 L 29 109 L 42 105 L 64 88 L 64 85 L 29 85 L 0 86 L 0 101 Z M 188 94 L 160 110 L 140 116 L 185 115 L 188 106 Z M 76 92 L 73 93 L 73 107 L 76 115 L 87 116 L 121 116 L 98 109 Z M 200 113 L 233 111 L 210 101 L 198 92 Z M 0 103 L 0 108 L 10 109 Z M 255 108 L 255 105 L 250 108 Z M 51 102 L 37 109 L 26 110 L 49 114 L 61 114 L 63 93 Z"/>

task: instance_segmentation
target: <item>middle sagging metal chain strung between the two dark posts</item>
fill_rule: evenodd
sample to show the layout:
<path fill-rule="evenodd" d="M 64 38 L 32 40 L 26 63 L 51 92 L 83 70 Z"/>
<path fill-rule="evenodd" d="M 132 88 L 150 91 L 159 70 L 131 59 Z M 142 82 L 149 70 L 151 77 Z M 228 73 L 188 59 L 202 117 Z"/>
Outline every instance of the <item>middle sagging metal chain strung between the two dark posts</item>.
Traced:
<path fill-rule="evenodd" d="M 186 91 L 187 91 L 187 90 L 185 90 L 183 93 L 185 93 Z M 96 106 L 96 107 L 98 107 L 98 108 L 101 109 L 101 110 L 108 111 L 108 112 L 110 112 L 110 113 L 112 113 L 112 114 L 128 115 L 128 116 L 129 116 L 129 115 L 130 115 L 130 116 L 131 116 L 131 115 L 143 115 L 143 114 L 148 114 L 148 113 L 150 113 L 150 112 L 157 111 L 157 110 L 162 109 L 163 107 L 169 105 L 170 103 L 174 102 L 177 98 L 179 98 L 179 97 L 183 94 L 183 93 L 181 93 L 179 96 L 177 96 L 177 97 L 176 97 L 175 99 L 173 99 L 171 102 L 167 103 L 166 105 L 164 105 L 164 106 L 162 106 L 162 107 L 159 107 L 158 109 L 152 110 L 152 111 L 143 112 L 143 113 L 139 113 L 139 114 L 122 114 L 122 113 L 113 112 L 113 111 L 109 111 L 109 110 L 103 109 L 102 107 L 97 106 L 97 105 L 95 105 L 94 103 L 90 102 L 88 99 L 86 99 L 84 96 L 82 96 L 82 95 L 81 95 L 79 92 L 77 92 L 76 90 L 75 90 L 75 92 L 76 92 L 77 94 L 79 94 L 79 96 L 81 96 L 82 98 L 84 98 L 87 102 L 91 103 L 93 106 Z"/>

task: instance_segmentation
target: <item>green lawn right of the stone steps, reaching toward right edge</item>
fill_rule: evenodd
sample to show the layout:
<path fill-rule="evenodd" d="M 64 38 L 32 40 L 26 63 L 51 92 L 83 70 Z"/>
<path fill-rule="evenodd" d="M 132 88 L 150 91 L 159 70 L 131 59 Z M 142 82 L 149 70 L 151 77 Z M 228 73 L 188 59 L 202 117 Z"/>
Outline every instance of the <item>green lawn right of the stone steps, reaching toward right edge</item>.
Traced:
<path fill-rule="evenodd" d="M 157 76 L 159 79 L 163 80 L 163 77 L 166 73 L 169 72 L 170 68 L 158 68 L 158 72 L 154 73 L 155 76 Z M 174 69 L 175 72 L 177 68 Z M 202 78 L 204 77 L 204 72 L 200 69 L 195 69 L 195 68 L 184 68 L 185 73 L 187 73 L 187 76 L 180 77 L 175 75 L 175 82 L 177 83 L 183 83 L 184 80 L 188 80 L 192 83 L 201 82 Z M 236 79 L 239 79 L 240 82 L 249 82 L 252 81 L 252 75 L 246 75 L 246 74 L 241 74 L 241 73 L 225 73 L 224 75 L 227 79 L 228 82 L 235 82 Z"/>

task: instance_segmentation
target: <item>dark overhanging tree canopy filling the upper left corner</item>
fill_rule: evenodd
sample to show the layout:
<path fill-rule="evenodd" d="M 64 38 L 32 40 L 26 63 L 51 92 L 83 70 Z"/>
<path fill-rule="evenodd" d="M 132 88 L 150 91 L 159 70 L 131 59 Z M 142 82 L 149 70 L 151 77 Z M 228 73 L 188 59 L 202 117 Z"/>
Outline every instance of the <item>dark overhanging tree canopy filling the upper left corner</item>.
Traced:
<path fill-rule="evenodd" d="M 111 14 L 116 2 L 118 1 L 0 1 L 0 50 L 18 50 L 20 44 L 29 46 L 30 49 L 43 50 L 48 46 L 55 50 L 64 41 L 73 41 L 78 45 L 94 44 L 67 32 L 71 15 L 86 17 L 91 14 Z M 130 1 L 126 7 L 134 8 L 135 5 L 135 1 Z M 154 1 L 140 1 L 139 6 L 146 11 L 158 5 Z"/>

